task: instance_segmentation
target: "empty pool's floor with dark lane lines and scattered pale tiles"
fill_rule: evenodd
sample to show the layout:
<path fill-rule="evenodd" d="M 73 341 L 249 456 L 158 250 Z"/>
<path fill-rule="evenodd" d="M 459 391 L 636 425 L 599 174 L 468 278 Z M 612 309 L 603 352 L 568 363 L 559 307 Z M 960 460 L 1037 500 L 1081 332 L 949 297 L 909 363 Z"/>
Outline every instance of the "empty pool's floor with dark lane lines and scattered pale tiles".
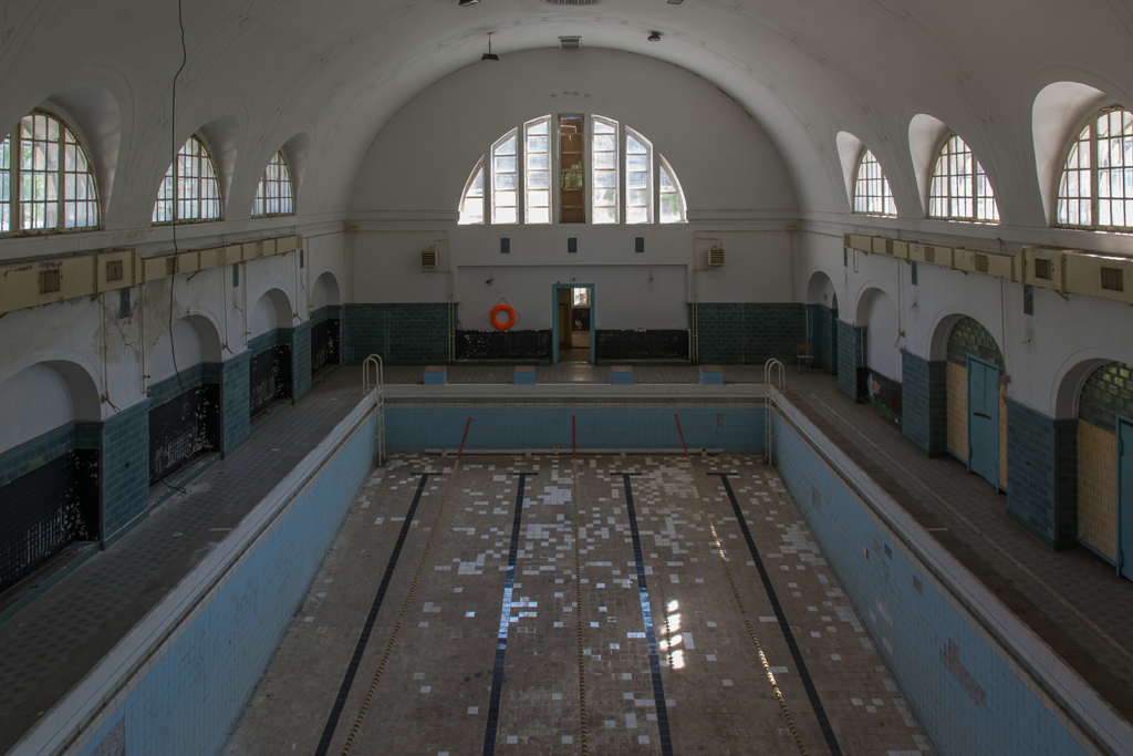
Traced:
<path fill-rule="evenodd" d="M 582 458 L 582 595 L 574 595 L 569 456 L 400 456 L 375 470 L 225 754 L 315 753 L 421 472 L 424 491 L 329 753 L 341 751 L 402 609 L 445 487 L 450 500 L 351 754 L 485 751 L 509 544 L 499 754 L 580 753 L 577 612 L 591 754 L 661 754 L 623 474 L 631 481 L 676 754 L 798 754 L 693 493 L 701 485 L 736 586 L 810 754 L 828 753 L 732 506 L 731 484 L 846 754 L 928 744 L 774 470 L 753 457 Z M 696 476 L 693 478 L 693 476 Z"/>

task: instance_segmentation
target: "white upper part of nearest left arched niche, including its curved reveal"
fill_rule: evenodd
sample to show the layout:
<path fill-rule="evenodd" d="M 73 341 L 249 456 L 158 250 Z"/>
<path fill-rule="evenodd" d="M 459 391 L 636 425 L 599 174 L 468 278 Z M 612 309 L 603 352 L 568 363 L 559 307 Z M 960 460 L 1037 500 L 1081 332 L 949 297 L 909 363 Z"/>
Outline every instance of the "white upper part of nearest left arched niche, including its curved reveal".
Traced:
<path fill-rule="evenodd" d="M 0 453 L 74 421 L 101 419 L 94 379 L 65 360 L 36 363 L 0 384 Z"/>

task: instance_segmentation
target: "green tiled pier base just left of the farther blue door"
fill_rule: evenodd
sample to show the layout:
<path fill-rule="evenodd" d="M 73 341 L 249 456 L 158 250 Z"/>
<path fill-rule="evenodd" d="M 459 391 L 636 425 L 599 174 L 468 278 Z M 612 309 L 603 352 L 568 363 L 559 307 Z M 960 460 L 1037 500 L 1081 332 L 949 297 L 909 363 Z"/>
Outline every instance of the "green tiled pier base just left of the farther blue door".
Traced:
<path fill-rule="evenodd" d="M 929 457 L 947 452 L 947 363 L 901 350 L 901 433 Z"/>

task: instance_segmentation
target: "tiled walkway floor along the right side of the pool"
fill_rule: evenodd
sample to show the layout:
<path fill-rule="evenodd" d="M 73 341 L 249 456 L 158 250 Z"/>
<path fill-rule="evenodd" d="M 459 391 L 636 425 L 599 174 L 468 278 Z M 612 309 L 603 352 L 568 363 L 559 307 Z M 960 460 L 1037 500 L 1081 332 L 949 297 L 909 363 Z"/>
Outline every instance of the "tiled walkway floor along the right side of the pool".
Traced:
<path fill-rule="evenodd" d="M 1133 583 L 1087 549 L 1041 544 L 1007 517 L 1006 496 L 951 457 L 923 457 L 877 411 L 845 399 L 836 379 L 794 376 L 787 398 L 1133 720 Z"/>

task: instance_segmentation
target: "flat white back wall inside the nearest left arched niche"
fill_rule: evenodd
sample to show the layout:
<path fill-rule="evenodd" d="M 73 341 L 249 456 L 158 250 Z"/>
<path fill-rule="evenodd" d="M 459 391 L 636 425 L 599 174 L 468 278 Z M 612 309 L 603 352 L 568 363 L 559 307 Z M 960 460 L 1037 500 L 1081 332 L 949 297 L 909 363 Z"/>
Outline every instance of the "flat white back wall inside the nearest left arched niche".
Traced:
<path fill-rule="evenodd" d="M 75 419 L 70 389 L 45 365 L 25 367 L 0 384 L 0 453 Z"/>

